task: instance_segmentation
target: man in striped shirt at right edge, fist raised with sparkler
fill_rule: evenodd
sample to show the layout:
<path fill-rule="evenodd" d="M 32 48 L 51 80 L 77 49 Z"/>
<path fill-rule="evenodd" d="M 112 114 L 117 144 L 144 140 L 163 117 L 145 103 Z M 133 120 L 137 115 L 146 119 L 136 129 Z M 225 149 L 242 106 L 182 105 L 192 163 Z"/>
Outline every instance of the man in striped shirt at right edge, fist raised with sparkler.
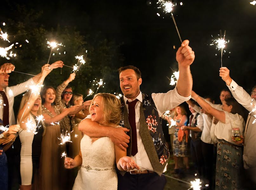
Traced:
<path fill-rule="evenodd" d="M 244 143 L 243 161 L 244 168 L 253 181 L 250 188 L 256 188 L 256 85 L 253 87 L 251 96 L 229 76 L 226 67 L 220 68 L 220 77 L 226 82 L 227 87 L 239 104 L 244 106 L 250 113 L 248 115 L 244 139 L 236 143 Z M 248 184 L 249 181 L 245 183 Z"/>

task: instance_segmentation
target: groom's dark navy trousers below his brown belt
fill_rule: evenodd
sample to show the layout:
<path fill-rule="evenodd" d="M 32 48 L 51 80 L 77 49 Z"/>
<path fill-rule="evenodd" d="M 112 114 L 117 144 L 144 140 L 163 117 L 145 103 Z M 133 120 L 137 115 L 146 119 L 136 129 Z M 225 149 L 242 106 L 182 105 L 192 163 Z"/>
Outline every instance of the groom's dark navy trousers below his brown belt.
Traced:
<path fill-rule="evenodd" d="M 118 190 L 161 190 L 164 189 L 166 179 L 164 175 L 156 173 L 149 174 L 130 174 L 128 172 L 122 176 L 117 172 Z"/>

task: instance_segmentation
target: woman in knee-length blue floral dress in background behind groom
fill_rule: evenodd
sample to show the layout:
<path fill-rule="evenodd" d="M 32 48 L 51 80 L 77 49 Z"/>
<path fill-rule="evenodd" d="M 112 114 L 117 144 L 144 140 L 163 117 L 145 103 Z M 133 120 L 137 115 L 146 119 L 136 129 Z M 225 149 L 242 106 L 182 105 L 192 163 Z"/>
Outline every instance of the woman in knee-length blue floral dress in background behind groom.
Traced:
<path fill-rule="evenodd" d="M 186 136 L 184 135 L 182 137 L 182 140 L 178 140 L 178 134 L 179 130 L 181 130 L 181 126 L 187 124 L 187 116 L 186 116 L 186 111 L 182 105 L 179 105 L 175 108 L 174 111 L 174 121 L 176 121 L 176 129 L 174 132 L 174 137 L 173 137 L 173 157 L 174 157 L 174 172 L 176 174 L 179 173 L 179 163 L 178 159 L 179 157 L 183 157 L 183 161 L 186 165 L 186 168 L 189 168 L 188 165 L 188 157 L 187 157 L 187 142 L 186 142 Z"/>

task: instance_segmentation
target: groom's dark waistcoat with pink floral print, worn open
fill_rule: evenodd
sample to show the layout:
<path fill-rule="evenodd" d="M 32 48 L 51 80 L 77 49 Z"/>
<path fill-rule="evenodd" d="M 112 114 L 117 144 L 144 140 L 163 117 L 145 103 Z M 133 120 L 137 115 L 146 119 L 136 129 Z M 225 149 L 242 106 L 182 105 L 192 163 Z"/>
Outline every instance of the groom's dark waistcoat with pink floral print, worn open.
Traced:
<path fill-rule="evenodd" d="M 122 117 L 120 125 L 130 130 L 128 132 L 128 135 L 130 136 L 130 143 L 128 144 L 129 147 L 127 149 L 127 155 L 131 156 L 132 129 L 129 124 L 128 111 L 127 107 L 125 106 L 123 97 L 121 98 L 121 110 Z M 158 115 L 158 111 L 152 97 L 146 94 L 142 94 L 142 103 L 140 107 L 141 140 L 154 171 L 162 174 L 167 164 L 166 161 L 169 159 L 170 153 L 165 144 L 165 138 L 160 119 L 161 117 Z"/>

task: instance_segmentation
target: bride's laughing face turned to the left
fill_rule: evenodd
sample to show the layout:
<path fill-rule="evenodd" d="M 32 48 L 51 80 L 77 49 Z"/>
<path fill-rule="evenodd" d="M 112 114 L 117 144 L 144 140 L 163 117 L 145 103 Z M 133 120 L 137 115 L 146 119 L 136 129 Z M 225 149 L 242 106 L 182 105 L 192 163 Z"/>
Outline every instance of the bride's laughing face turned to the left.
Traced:
<path fill-rule="evenodd" d="M 103 111 L 102 111 L 102 96 L 96 96 L 90 107 L 92 121 L 96 121 L 99 124 L 103 122 Z"/>

